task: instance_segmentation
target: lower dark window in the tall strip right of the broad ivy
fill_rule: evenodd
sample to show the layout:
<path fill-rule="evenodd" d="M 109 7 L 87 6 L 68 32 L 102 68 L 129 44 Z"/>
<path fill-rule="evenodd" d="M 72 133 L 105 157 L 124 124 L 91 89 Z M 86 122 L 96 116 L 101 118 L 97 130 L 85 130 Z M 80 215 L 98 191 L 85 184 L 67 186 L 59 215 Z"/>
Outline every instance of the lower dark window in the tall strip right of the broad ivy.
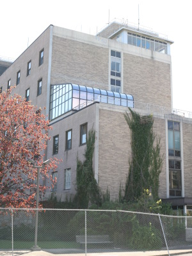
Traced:
<path fill-rule="evenodd" d="M 180 161 L 169 160 L 170 196 L 181 196 L 181 168 Z"/>

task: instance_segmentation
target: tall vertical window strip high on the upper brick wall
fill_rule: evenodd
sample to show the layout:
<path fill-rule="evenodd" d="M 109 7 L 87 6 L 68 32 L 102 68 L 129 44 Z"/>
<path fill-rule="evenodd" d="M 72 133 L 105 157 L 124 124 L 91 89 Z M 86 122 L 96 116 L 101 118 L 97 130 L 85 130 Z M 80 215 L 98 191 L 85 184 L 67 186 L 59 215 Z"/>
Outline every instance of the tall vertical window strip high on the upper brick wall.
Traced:
<path fill-rule="evenodd" d="M 111 91 L 121 91 L 121 53 L 111 50 Z M 118 79 L 116 79 L 118 77 Z"/>

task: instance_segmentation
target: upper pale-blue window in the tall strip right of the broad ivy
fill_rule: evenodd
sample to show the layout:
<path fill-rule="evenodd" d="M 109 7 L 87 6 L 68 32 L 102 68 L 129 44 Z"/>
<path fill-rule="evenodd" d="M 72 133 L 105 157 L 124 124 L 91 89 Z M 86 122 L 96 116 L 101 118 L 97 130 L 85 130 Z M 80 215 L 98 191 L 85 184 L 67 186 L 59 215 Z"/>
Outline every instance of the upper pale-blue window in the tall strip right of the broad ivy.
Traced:
<path fill-rule="evenodd" d="M 180 157 L 180 123 L 168 121 L 169 156 Z"/>

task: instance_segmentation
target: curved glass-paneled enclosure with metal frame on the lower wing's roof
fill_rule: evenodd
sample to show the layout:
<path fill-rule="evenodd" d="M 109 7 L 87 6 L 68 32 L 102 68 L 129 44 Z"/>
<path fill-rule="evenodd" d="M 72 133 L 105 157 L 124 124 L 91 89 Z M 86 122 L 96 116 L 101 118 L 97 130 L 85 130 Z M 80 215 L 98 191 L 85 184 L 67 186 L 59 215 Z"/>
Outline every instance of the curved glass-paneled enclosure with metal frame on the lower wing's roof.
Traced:
<path fill-rule="evenodd" d="M 49 119 L 82 109 L 93 102 L 134 107 L 132 95 L 77 84 L 56 84 L 51 85 Z"/>

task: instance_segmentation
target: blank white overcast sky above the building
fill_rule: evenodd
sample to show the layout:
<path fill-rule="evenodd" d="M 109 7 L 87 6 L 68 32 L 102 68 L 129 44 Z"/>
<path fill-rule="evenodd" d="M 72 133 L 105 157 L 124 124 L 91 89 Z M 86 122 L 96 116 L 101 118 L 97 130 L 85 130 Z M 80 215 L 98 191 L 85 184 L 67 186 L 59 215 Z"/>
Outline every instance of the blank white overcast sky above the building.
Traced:
<path fill-rule="evenodd" d="M 1 0 L 0 58 L 19 57 L 50 24 L 95 35 L 109 21 L 138 26 L 140 17 L 140 26 L 174 42 L 173 108 L 192 112 L 191 6 L 191 0 Z"/>

